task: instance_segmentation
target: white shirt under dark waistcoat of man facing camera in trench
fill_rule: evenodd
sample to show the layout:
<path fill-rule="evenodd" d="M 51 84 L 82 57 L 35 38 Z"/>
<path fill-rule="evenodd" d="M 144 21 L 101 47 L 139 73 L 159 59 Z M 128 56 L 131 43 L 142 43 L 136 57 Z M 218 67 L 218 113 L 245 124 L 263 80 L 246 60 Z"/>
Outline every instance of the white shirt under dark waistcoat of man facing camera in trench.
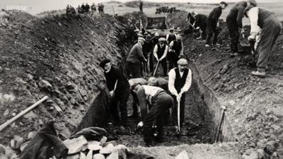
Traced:
<path fill-rule="evenodd" d="M 180 77 L 182 78 L 184 71 L 183 72 L 179 71 L 179 73 L 180 73 Z M 178 92 L 175 88 L 175 78 L 176 78 L 175 69 L 171 69 L 171 71 L 169 71 L 169 73 L 168 73 L 168 76 L 169 76 L 169 81 L 168 81 L 169 91 L 173 95 L 178 95 Z M 192 71 L 190 71 L 190 69 L 189 69 L 189 72 L 187 73 L 185 85 L 183 86 L 183 88 L 181 88 L 181 92 L 183 92 L 183 93 L 187 92 L 187 90 L 190 89 L 191 84 L 192 84 Z"/>

